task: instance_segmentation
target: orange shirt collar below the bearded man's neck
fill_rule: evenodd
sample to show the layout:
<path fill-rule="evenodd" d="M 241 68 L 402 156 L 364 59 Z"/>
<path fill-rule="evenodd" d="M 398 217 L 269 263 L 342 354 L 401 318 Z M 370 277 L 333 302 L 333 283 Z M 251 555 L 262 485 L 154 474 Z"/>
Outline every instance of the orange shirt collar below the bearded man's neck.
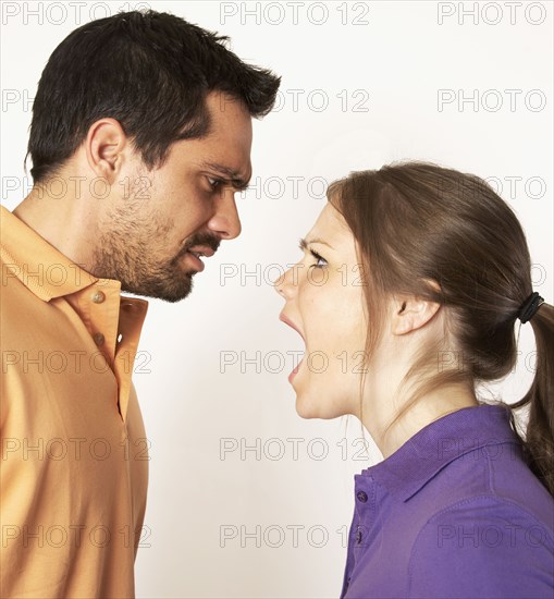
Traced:
<path fill-rule="evenodd" d="M 121 289 L 121 282 L 94 277 L 50 245 L 34 229 L 0 205 L 2 284 L 16 277 L 45 302 L 81 291 L 98 281 Z M 9 272 L 8 272 L 9 271 Z"/>

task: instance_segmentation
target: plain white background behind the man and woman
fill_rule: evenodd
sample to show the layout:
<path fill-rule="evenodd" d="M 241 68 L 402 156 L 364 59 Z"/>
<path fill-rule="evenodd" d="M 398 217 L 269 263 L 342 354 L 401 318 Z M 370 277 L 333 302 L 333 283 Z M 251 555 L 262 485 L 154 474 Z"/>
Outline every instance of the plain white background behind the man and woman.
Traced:
<path fill-rule="evenodd" d="M 29 98 L 51 51 L 91 17 L 146 5 L 81 2 L 79 14 L 61 4 L 2 2 L 9 209 L 26 193 Z M 304 346 L 278 320 L 271 286 L 300 257 L 298 239 L 324 206 L 321 180 L 405 158 L 488 178 L 517 211 L 534 288 L 553 302 L 552 3 L 294 4 L 149 2 L 231 36 L 241 58 L 283 81 L 279 110 L 255 123 L 242 235 L 207 261 L 186 301 L 150 300 L 134 375 L 151 443 L 138 597 L 340 594 L 353 474 L 379 454 L 354 460 L 357 421 L 296 415 L 286 352 Z M 440 106 L 440 95 L 453 101 Z M 527 327 L 525 359 L 495 388 L 506 401 L 529 384 L 532 349 Z M 236 364 L 222 368 L 223 355 Z M 237 449 L 222 454 L 223 443 Z"/>

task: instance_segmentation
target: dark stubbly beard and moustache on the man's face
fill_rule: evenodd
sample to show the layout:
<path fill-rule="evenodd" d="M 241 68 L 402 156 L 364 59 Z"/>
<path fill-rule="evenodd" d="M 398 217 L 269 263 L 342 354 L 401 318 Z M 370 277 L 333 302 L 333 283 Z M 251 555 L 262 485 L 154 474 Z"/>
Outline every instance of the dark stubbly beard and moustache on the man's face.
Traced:
<path fill-rule="evenodd" d="M 134 225 L 131 228 L 136 229 Z M 90 273 L 121 281 L 123 292 L 157 297 L 170 303 L 180 302 L 193 291 L 193 276 L 197 272 L 183 268 L 183 256 L 188 248 L 196 245 L 208 245 L 217 250 L 220 240 L 210 233 L 195 233 L 186 240 L 176 256 L 156 260 L 155 254 L 149 249 L 151 240 L 163 240 L 170 227 L 152 227 L 149 223 L 148 229 L 150 231 L 145 231 L 143 240 L 137 240 L 136 230 L 135 237 L 130 231 L 101 234 L 100 244 L 94 250 Z"/>

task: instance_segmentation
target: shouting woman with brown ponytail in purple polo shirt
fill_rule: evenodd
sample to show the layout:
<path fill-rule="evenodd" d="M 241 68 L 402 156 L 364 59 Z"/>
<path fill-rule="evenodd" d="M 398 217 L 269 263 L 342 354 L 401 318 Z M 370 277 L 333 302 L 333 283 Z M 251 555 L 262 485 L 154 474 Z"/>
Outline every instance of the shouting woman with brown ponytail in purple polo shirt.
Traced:
<path fill-rule="evenodd" d="M 356 415 L 384 457 L 355 476 L 341 597 L 552 599 L 554 309 L 516 216 L 478 178 L 426 163 L 353 173 L 328 198 L 275 286 L 306 343 L 298 414 Z M 533 383 L 484 404 L 479 383 L 515 366 L 518 320 Z"/>

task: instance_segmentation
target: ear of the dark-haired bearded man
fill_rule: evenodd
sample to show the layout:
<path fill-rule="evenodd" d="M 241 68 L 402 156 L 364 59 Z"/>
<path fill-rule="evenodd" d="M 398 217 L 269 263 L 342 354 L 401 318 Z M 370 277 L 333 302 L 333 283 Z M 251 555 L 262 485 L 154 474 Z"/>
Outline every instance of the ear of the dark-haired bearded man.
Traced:
<path fill-rule="evenodd" d="M 107 179 L 109 183 L 115 180 L 126 145 L 127 136 L 115 119 L 100 119 L 90 125 L 85 150 L 88 164 L 97 176 Z"/>

